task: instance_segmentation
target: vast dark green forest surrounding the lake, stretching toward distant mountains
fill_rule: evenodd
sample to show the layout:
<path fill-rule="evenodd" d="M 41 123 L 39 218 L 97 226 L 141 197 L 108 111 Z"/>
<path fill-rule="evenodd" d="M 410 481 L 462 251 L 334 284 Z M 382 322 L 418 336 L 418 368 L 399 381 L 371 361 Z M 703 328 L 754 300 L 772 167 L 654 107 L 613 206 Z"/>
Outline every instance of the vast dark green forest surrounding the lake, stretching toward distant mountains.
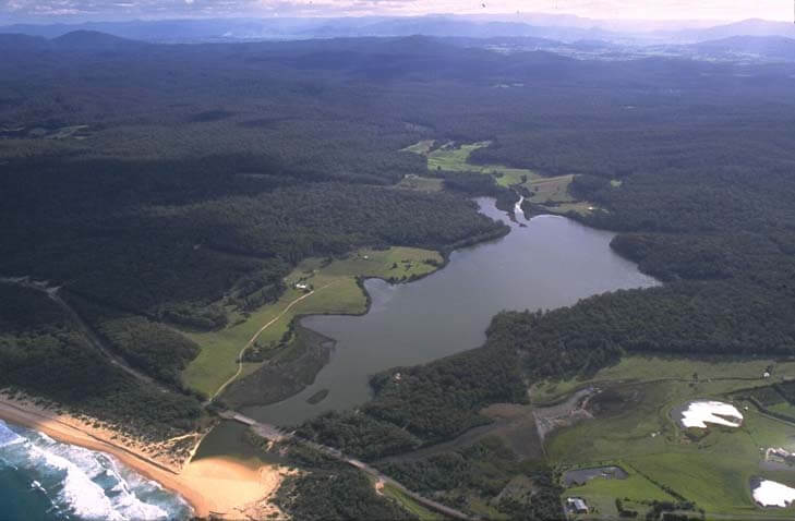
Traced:
<path fill-rule="evenodd" d="M 571 191 L 594 209 L 573 217 L 621 232 L 613 247 L 665 286 L 503 313 L 480 349 L 375 375 L 371 402 L 301 434 L 376 460 L 487 422 L 483 407 L 522 401 L 539 378 L 624 353 L 795 354 L 791 65 L 589 62 L 419 37 L 2 36 L 0 51 L 0 276 L 62 286 L 120 356 L 174 388 L 196 347 L 166 328 L 224 327 L 230 307 L 278 298 L 304 257 L 447 252 L 504 233 L 467 196 L 510 194 L 487 174 L 427 171 L 400 152 L 423 140 L 490 141 L 472 161 L 578 174 Z M 401 190 L 406 174 L 447 190 Z M 46 298 L 0 289 L 3 385 L 113 421 L 194 422 L 196 400 L 149 407 L 154 391 L 94 356 Z M 495 501 L 519 472 L 538 501 L 508 500 L 503 513 L 557 508 L 549 469 L 517 458 L 486 444 L 389 469 L 419 488 L 471 487 Z M 471 480 L 481 464 L 493 480 Z M 296 477 L 289 490 L 325 478 Z M 340 486 L 361 492 L 359 478 Z M 280 498 L 296 512 L 356 513 L 326 499 Z"/>

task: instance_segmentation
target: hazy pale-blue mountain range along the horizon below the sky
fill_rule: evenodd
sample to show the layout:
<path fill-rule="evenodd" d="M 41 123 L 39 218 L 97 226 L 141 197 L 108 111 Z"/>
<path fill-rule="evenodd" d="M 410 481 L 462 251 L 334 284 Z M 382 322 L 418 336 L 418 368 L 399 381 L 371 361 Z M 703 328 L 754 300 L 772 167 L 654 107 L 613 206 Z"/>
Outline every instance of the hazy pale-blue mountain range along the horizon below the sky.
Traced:
<path fill-rule="evenodd" d="M 733 36 L 795 38 L 795 24 L 746 20 L 726 25 L 672 28 L 671 24 L 589 20 L 571 15 L 523 14 L 510 16 L 429 15 L 412 17 L 340 19 L 210 19 L 82 24 L 0 26 L 1 33 L 53 38 L 74 31 L 97 31 L 147 41 L 208 41 L 234 39 L 308 39 L 361 36 L 538 37 L 571 43 L 599 39 L 636 44 L 695 44 Z"/>

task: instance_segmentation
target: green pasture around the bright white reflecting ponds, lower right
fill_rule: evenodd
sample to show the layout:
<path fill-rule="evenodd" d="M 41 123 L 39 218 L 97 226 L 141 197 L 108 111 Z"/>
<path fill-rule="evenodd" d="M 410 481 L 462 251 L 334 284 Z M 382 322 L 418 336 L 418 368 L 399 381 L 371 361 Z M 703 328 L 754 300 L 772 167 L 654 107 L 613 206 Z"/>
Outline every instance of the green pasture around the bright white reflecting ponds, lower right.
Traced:
<path fill-rule="evenodd" d="M 763 379 L 761 375 L 769 365 L 773 365 L 773 376 Z M 682 429 L 671 413 L 694 399 L 730 401 L 726 393 L 792 377 L 794 373 L 792 362 L 776 364 L 770 360 L 626 358 L 587 380 L 607 389 L 605 392 L 611 393 L 607 407 L 594 409 L 592 421 L 553 433 L 546 451 L 553 463 L 564 467 L 616 463 L 638 476 L 633 482 L 593 480 L 567 492 L 586 497 L 599 508 L 610 509 L 616 497 L 636 501 L 661 499 L 664 486 L 695 501 L 708 513 L 766 517 L 793 512 L 795 509 L 758 508 L 748 482 L 755 475 L 778 477 L 787 484 L 795 482 L 795 472 L 760 468 L 762 449 L 795 450 L 795 426 L 767 417 L 742 401 L 736 403 L 745 416 L 739 428 L 712 426 L 695 433 Z M 533 399 L 552 399 L 583 383 L 546 383 L 534 389 Z M 599 401 L 599 397 L 593 400 Z"/>

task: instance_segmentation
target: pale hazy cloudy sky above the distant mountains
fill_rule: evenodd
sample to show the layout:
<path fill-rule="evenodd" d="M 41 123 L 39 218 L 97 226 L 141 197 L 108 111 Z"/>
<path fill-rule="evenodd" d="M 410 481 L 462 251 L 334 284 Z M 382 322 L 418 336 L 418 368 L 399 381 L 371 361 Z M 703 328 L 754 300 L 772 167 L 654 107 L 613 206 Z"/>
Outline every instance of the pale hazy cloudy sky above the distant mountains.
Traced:
<path fill-rule="evenodd" d="M 794 0 L 0 0 L 0 24 L 21 19 L 344 16 L 559 13 L 593 19 L 793 19 Z"/>

